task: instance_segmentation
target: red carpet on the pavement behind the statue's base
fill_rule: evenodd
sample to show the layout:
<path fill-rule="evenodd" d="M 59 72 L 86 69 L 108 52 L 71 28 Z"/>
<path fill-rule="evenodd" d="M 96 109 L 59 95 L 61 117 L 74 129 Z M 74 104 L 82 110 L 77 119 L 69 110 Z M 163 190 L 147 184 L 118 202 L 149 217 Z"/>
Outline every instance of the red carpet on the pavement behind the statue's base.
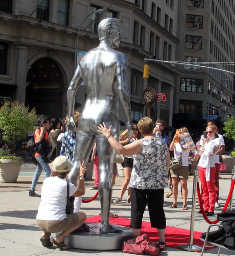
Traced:
<path fill-rule="evenodd" d="M 100 222 L 100 216 L 88 217 L 86 222 Z M 111 224 L 122 225 L 125 227 L 130 226 L 130 219 L 118 217 L 118 218 L 110 218 Z M 143 221 L 141 228 L 141 235 L 147 233 L 149 235 L 150 240 L 158 240 L 156 228 L 151 228 L 150 222 Z M 194 240 L 193 243 L 196 245 L 203 246 L 203 241 L 200 241 L 201 232 L 194 232 Z M 168 247 L 179 249 L 179 244 L 188 244 L 189 243 L 189 230 L 184 228 L 174 228 L 166 226 L 165 231 L 165 239 Z M 211 248 L 208 248 L 211 249 Z"/>

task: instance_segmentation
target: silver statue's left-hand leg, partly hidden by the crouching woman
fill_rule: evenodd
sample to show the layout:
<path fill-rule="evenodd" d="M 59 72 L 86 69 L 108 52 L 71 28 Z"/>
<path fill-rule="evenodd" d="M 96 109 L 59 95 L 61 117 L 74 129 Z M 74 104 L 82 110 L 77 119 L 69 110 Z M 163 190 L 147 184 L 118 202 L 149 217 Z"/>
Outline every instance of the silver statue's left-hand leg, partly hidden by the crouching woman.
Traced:
<path fill-rule="evenodd" d="M 90 152 L 95 143 L 95 135 L 92 133 L 80 132 L 76 133 L 76 147 L 74 155 L 74 167 L 68 175 L 68 180 L 75 186 L 77 185 L 78 175 L 79 175 L 79 160 L 82 162 L 89 160 Z"/>

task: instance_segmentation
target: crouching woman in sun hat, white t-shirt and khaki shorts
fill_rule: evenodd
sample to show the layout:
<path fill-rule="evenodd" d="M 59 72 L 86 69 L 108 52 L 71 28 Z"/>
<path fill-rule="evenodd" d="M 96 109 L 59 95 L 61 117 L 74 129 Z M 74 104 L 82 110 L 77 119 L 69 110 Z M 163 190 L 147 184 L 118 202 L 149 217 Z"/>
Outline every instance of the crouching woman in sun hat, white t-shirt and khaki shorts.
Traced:
<path fill-rule="evenodd" d="M 82 196 L 85 194 L 84 167 L 85 161 L 80 163 L 78 188 L 69 183 L 70 196 Z M 61 251 L 70 250 L 64 244 L 64 238 L 79 228 L 86 221 L 84 212 L 66 214 L 67 181 L 66 177 L 73 168 L 73 164 L 65 156 L 58 156 L 52 164 L 51 177 L 43 181 L 42 197 L 38 208 L 36 221 L 43 231 L 40 241 L 45 247 L 55 244 Z M 59 233 L 60 232 L 60 233 Z M 59 233 L 54 238 L 51 233 Z"/>

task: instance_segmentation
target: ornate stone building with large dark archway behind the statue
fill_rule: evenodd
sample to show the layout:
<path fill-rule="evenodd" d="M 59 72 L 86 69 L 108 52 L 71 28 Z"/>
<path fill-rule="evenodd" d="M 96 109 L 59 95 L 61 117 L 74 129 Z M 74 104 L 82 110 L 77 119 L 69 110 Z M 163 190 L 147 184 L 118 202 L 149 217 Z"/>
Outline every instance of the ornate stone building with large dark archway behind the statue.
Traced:
<path fill-rule="evenodd" d="M 110 8 L 114 1 L 1 2 L 4 4 L 0 4 L 0 100 L 15 99 L 35 107 L 38 114 L 65 116 L 78 31 L 78 51 L 89 51 L 99 43 L 98 20 L 116 17 L 123 20 L 118 50 L 128 57 L 127 83 L 133 121 L 145 116 L 142 91 L 149 85 L 156 92 L 167 93 L 166 102 L 157 103 L 157 117 L 172 124 L 178 71 L 173 65 L 151 63 L 149 79 L 143 79 L 142 74 L 145 57 L 176 58 L 178 0 L 118 0 Z M 108 9 L 95 20 L 98 14 L 89 14 L 99 8 Z M 85 98 L 85 87 L 81 85 L 76 95 L 77 106 L 81 104 L 79 110 Z M 153 106 L 151 113 L 153 116 Z M 126 122 L 122 108 L 120 120 Z"/>

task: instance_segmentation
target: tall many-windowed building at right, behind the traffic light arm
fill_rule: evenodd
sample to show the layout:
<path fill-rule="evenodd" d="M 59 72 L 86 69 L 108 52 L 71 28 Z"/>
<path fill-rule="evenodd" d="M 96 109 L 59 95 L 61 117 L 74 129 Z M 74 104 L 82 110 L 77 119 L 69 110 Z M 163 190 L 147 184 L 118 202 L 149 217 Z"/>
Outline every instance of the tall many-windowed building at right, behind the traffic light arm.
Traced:
<path fill-rule="evenodd" d="M 233 72 L 235 1 L 184 0 L 179 10 L 177 60 Z M 223 115 L 216 120 L 220 126 L 225 113 L 235 112 L 233 74 L 200 66 L 179 70 L 173 125 L 184 124 L 198 138 L 208 119 Z"/>

